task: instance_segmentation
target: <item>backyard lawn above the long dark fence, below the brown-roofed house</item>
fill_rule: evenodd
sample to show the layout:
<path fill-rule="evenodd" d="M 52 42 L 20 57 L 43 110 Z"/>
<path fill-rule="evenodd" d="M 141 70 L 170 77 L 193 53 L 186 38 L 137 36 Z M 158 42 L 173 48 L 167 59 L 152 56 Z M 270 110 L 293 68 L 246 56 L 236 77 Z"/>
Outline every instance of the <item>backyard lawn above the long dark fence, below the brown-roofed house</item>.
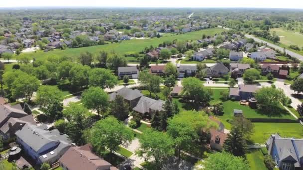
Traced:
<path fill-rule="evenodd" d="M 246 118 L 276 118 L 276 119 L 295 119 L 287 110 L 283 109 L 282 106 L 274 114 L 264 113 L 257 109 L 251 109 L 249 106 L 240 105 L 239 101 L 226 101 L 223 103 L 224 114 L 218 116 L 222 123 L 225 125 L 226 129 L 231 129 L 231 124 L 228 120 L 232 120 L 234 115 L 234 109 L 239 109 L 243 111 L 243 115 Z"/>

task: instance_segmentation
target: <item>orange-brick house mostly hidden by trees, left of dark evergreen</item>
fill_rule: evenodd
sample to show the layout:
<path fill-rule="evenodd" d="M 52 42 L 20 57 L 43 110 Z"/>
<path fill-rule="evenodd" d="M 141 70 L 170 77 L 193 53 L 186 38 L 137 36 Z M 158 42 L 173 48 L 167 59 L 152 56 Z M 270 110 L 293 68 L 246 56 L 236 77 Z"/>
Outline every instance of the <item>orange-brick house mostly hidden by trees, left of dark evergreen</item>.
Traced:
<path fill-rule="evenodd" d="M 207 139 L 211 149 L 222 150 L 223 144 L 227 139 L 227 133 L 224 133 L 224 125 L 216 117 L 209 116 L 209 119 L 218 124 L 218 128 L 211 128 L 207 134 Z"/>

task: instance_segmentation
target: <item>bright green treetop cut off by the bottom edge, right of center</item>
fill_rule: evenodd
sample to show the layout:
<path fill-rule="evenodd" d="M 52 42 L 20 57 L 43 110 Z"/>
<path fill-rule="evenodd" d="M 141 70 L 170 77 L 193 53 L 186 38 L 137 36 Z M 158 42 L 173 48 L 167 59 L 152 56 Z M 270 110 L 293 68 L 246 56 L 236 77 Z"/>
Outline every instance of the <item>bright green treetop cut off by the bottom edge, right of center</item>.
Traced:
<path fill-rule="evenodd" d="M 210 154 L 203 165 L 205 170 L 250 170 L 244 158 L 226 152 Z"/>

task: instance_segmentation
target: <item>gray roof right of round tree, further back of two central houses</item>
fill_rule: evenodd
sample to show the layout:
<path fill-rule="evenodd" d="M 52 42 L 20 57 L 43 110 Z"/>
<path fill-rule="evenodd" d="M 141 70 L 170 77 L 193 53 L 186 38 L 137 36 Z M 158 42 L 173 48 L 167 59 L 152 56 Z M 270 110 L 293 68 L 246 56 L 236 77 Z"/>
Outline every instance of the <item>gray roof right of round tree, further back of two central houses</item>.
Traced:
<path fill-rule="evenodd" d="M 116 99 L 116 95 L 122 96 L 125 100 L 134 100 L 136 98 L 139 98 L 142 96 L 141 92 L 137 89 L 132 90 L 130 88 L 121 88 L 117 90 L 116 92 L 113 92 L 110 94 L 110 101 L 113 101 Z"/>

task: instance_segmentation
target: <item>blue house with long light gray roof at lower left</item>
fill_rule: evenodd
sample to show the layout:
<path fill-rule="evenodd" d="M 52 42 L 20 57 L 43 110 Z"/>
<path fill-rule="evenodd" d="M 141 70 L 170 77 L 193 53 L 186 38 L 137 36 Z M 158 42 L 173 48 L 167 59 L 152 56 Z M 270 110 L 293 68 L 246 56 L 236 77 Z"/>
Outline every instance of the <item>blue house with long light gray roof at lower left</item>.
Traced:
<path fill-rule="evenodd" d="M 15 133 L 16 142 L 36 164 L 53 164 L 72 146 L 66 134 L 46 129 L 46 125 L 26 124 Z"/>

